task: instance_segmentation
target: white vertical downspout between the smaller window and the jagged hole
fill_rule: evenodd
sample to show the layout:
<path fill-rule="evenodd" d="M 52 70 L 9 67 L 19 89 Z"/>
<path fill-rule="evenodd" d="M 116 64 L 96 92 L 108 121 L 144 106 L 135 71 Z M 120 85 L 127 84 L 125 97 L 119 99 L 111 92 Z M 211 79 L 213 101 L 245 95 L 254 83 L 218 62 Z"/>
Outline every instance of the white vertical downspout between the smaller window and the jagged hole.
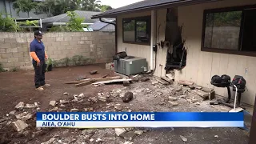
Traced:
<path fill-rule="evenodd" d="M 150 34 L 150 71 L 154 70 L 154 30 L 155 30 L 155 10 L 151 10 L 151 34 Z"/>

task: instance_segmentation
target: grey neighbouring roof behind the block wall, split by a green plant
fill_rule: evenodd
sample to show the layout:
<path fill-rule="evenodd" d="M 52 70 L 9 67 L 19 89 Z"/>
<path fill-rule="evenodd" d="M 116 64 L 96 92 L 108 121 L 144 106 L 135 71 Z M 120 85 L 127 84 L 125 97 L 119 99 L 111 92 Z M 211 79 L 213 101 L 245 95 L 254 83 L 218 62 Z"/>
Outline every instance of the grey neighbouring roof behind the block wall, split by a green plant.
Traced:
<path fill-rule="evenodd" d="M 94 14 L 100 14 L 100 12 L 95 11 L 81 11 L 81 10 L 74 10 L 75 13 L 78 14 L 79 17 L 85 18 L 84 22 L 86 23 L 94 23 L 97 22 L 97 19 L 91 19 Z M 67 14 L 60 14 L 54 17 L 42 19 L 42 23 L 53 23 L 53 22 L 68 22 L 70 18 Z"/>

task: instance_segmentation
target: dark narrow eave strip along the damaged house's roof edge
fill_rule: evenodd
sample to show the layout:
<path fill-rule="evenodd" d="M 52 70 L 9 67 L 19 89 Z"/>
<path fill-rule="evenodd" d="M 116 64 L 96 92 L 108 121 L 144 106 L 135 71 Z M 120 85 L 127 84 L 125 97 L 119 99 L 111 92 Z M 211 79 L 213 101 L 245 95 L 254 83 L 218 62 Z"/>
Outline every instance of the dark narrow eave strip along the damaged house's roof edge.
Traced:
<path fill-rule="evenodd" d="M 93 15 L 91 18 L 116 18 L 118 14 L 125 14 L 125 13 L 130 13 L 130 12 L 135 12 L 135 11 L 146 11 L 146 10 L 158 10 L 158 9 L 164 9 L 164 8 L 169 8 L 169 7 L 176 7 L 176 6 L 189 6 L 189 5 L 195 5 L 195 4 L 201 4 L 201 3 L 207 3 L 207 2 L 217 2 L 217 1 L 223 1 L 223 0 L 184 0 L 184 1 L 179 1 L 179 2 L 168 2 L 168 3 L 163 3 L 159 5 L 154 5 L 154 6 L 145 6 L 145 7 L 139 7 L 135 9 L 130 9 L 130 10 L 122 10 L 122 11 L 117 11 L 117 12 L 112 12 L 112 13 L 106 13 L 106 14 L 96 14 Z"/>

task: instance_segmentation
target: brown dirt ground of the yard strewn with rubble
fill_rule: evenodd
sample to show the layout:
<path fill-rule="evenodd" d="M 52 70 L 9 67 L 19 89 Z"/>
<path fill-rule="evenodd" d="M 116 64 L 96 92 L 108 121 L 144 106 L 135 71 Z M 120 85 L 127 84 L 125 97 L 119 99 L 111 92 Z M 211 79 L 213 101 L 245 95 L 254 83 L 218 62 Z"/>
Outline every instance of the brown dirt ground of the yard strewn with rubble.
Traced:
<path fill-rule="evenodd" d="M 98 74 L 90 75 L 91 70 L 98 70 Z M 0 143 L 110 143 L 110 144 L 167 144 L 167 143 L 230 143 L 246 144 L 249 140 L 249 132 L 238 128 L 130 128 L 127 134 L 132 136 L 118 137 L 114 129 L 60 129 L 60 128 L 36 128 L 35 109 L 16 111 L 15 114 L 24 112 L 33 116 L 25 122 L 29 125 L 26 130 L 16 132 L 10 122 L 17 120 L 15 114 L 9 114 L 14 110 L 18 102 L 38 102 L 40 111 L 49 111 L 54 106 L 49 106 L 51 100 L 72 100 L 74 94 L 84 94 L 78 102 L 69 102 L 61 107 L 58 103 L 53 111 L 228 111 L 226 106 L 210 106 L 208 101 L 190 93 L 187 87 L 178 90 L 178 86 L 154 84 L 153 77 L 147 82 L 133 82 L 130 86 L 111 84 L 105 86 L 82 86 L 64 84 L 76 78 L 99 78 L 110 74 L 111 70 L 105 70 L 105 65 L 78 66 L 54 69 L 46 73 L 46 82 L 51 86 L 45 91 L 34 90 L 34 71 L 18 71 L 0 73 Z M 123 103 L 121 97 L 130 91 L 134 99 L 129 103 Z M 63 95 L 67 92 L 69 95 Z M 99 100 L 98 93 L 108 98 L 107 102 Z M 177 98 L 177 106 L 170 102 L 169 97 Z M 191 99 L 196 101 L 191 102 Z M 7 115 L 6 115 L 7 114 Z M 4 119 L 4 120 L 1 120 Z M 143 134 L 134 134 L 136 130 L 143 130 Z M 181 136 L 187 138 L 183 142 Z M 130 139 L 131 138 L 131 139 Z"/>

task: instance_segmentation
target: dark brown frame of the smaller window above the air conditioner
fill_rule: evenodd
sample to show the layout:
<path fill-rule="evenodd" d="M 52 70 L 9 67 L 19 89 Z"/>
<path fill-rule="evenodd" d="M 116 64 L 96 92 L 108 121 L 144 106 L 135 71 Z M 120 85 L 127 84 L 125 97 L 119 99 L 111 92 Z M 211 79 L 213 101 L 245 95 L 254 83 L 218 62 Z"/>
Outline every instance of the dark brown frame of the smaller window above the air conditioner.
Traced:
<path fill-rule="evenodd" d="M 136 36 L 137 36 L 137 22 L 144 22 L 145 19 L 149 20 L 149 42 L 136 42 Z M 130 41 L 125 41 L 124 39 L 124 25 L 123 22 L 127 20 L 134 20 L 134 40 L 135 42 L 130 42 Z M 151 16 L 142 16 L 142 17 L 134 17 L 134 18 L 122 18 L 122 42 L 123 43 L 130 43 L 130 44 L 138 44 L 138 45 L 146 45 L 150 46 L 150 41 L 151 41 Z"/>

